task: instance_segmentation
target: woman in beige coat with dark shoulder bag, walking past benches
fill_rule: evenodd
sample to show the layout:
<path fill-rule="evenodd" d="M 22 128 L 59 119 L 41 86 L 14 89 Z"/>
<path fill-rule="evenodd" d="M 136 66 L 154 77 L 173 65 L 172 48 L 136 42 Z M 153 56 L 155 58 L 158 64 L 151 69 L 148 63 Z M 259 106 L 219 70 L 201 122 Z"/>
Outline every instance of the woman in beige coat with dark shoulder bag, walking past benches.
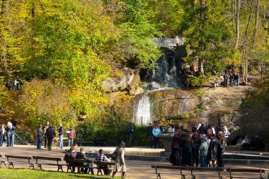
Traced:
<path fill-rule="evenodd" d="M 116 172 L 122 172 L 121 178 L 124 179 L 125 172 L 126 172 L 126 165 L 124 160 L 124 151 L 125 151 L 125 142 L 121 141 L 119 146 L 116 148 L 116 159 L 115 159 L 115 166 L 114 172 L 112 174 L 112 178 L 116 175 Z"/>

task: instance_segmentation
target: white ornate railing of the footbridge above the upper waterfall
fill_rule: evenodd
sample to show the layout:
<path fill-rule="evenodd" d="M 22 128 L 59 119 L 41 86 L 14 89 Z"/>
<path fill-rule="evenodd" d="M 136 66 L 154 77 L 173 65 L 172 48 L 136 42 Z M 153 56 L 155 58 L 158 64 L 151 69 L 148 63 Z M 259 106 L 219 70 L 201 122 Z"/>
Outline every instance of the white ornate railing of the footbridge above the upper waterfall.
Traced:
<path fill-rule="evenodd" d="M 150 42 L 157 45 L 157 47 L 176 47 L 177 45 L 183 45 L 185 38 L 182 39 L 147 39 Z"/>

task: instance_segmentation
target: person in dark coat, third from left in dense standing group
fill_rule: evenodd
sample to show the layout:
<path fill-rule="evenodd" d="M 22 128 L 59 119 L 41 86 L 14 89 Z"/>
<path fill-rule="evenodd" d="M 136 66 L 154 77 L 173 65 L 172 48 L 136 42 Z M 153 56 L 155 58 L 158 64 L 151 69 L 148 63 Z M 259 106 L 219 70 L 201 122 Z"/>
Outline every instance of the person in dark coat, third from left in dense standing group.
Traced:
<path fill-rule="evenodd" d="M 196 166 L 198 167 L 199 165 L 199 146 L 201 144 L 201 136 L 200 136 L 200 131 L 196 130 L 195 134 L 192 135 L 191 137 L 193 145 L 192 145 L 192 163 L 194 164 L 194 160 L 196 163 Z"/>

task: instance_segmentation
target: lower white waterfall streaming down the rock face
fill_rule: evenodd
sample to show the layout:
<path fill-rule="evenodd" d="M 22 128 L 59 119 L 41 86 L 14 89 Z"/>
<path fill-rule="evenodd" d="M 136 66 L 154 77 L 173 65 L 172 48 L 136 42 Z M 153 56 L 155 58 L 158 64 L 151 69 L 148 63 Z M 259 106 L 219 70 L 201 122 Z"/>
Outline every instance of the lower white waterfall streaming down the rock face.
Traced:
<path fill-rule="evenodd" d="M 134 99 L 133 122 L 137 125 L 147 125 L 151 122 L 150 107 L 151 104 L 148 93 L 137 96 L 136 99 Z"/>

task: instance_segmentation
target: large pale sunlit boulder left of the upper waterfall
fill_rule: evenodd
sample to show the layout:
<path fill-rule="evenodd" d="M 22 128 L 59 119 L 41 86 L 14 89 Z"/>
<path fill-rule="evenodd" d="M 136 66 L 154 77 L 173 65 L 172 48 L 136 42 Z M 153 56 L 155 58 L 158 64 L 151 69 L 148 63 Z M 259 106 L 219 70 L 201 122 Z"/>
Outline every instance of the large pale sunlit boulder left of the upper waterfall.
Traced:
<path fill-rule="evenodd" d="M 139 81 L 139 70 L 125 67 L 119 75 L 104 80 L 103 87 L 106 92 L 123 91 Z"/>

